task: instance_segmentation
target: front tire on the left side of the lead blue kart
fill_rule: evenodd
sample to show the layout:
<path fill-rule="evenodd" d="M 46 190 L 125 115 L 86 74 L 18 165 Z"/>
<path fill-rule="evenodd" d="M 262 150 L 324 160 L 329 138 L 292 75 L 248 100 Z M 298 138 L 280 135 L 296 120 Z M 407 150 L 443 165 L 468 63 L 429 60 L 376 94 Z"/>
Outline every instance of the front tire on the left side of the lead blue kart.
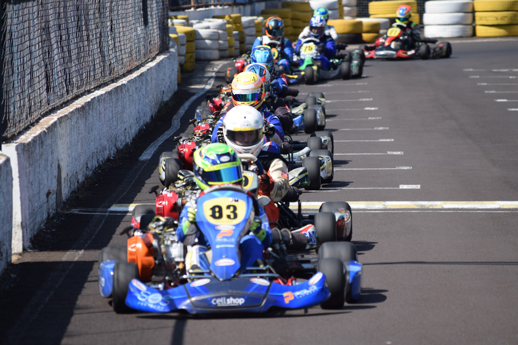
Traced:
<path fill-rule="evenodd" d="M 118 313 L 128 313 L 133 309 L 126 305 L 128 284 L 132 279 L 138 279 L 138 267 L 130 262 L 117 262 L 113 267 L 113 291 L 111 306 Z"/>

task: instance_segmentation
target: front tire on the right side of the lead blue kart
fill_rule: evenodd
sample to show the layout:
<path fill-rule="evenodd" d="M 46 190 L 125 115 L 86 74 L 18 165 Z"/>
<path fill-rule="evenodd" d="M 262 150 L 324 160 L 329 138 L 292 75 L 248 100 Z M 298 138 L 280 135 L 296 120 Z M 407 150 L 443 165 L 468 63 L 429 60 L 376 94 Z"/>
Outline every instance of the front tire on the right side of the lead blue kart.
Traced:
<path fill-rule="evenodd" d="M 319 271 L 325 275 L 331 296 L 322 302 L 322 309 L 341 309 L 345 302 L 344 289 L 346 277 L 343 274 L 343 263 L 339 259 L 326 258 L 319 260 Z"/>

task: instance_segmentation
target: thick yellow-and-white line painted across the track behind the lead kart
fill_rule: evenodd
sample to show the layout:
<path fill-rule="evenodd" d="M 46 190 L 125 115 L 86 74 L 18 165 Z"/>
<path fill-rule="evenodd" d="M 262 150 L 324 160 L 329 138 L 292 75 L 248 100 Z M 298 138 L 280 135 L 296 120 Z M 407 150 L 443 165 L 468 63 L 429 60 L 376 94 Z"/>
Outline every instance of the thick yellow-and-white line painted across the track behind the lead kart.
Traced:
<path fill-rule="evenodd" d="M 303 192 L 303 196 L 307 191 Z M 319 209 L 322 201 L 301 202 L 302 209 Z M 518 201 L 349 201 L 352 209 L 513 209 L 518 208 Z M 71 208 L 65 213 L 129 215 L 137 205 L 151 203 L 114 204 L 110 208 Z M 290 208 L 297 209 L 296 203 Z"/>

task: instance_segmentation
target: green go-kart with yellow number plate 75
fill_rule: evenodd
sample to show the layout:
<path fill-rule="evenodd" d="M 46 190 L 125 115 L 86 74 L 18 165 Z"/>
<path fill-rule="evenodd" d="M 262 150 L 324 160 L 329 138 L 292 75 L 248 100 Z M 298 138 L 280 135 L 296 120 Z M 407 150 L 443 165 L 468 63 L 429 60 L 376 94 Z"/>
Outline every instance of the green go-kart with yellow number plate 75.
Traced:
<path fill-rule="evenodd" d="M 321 54 L 318 39 L 308 37 L 301 41 L 299 54 L 294 57 L 294 61 L 299 64 L 299 70 L 304 72 L 307 85 L 312 85 L 320 79 L 351 79 L 351 62 L 342 58 L 330 59 L 330 68 L 326 70 L 322 68 L 318 59 Z"/>

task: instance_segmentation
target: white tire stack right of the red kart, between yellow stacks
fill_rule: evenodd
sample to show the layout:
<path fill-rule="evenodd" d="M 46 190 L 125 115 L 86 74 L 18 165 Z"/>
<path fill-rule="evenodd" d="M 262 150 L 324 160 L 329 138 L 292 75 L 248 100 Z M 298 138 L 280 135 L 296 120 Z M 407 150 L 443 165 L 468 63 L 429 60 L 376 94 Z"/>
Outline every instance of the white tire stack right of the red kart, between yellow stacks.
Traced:
<path fill-rule="evenodd" d="M 427 1 L 424 6 L 425 37 L 473 36 L 472 0 L 433 0 Z"/>

